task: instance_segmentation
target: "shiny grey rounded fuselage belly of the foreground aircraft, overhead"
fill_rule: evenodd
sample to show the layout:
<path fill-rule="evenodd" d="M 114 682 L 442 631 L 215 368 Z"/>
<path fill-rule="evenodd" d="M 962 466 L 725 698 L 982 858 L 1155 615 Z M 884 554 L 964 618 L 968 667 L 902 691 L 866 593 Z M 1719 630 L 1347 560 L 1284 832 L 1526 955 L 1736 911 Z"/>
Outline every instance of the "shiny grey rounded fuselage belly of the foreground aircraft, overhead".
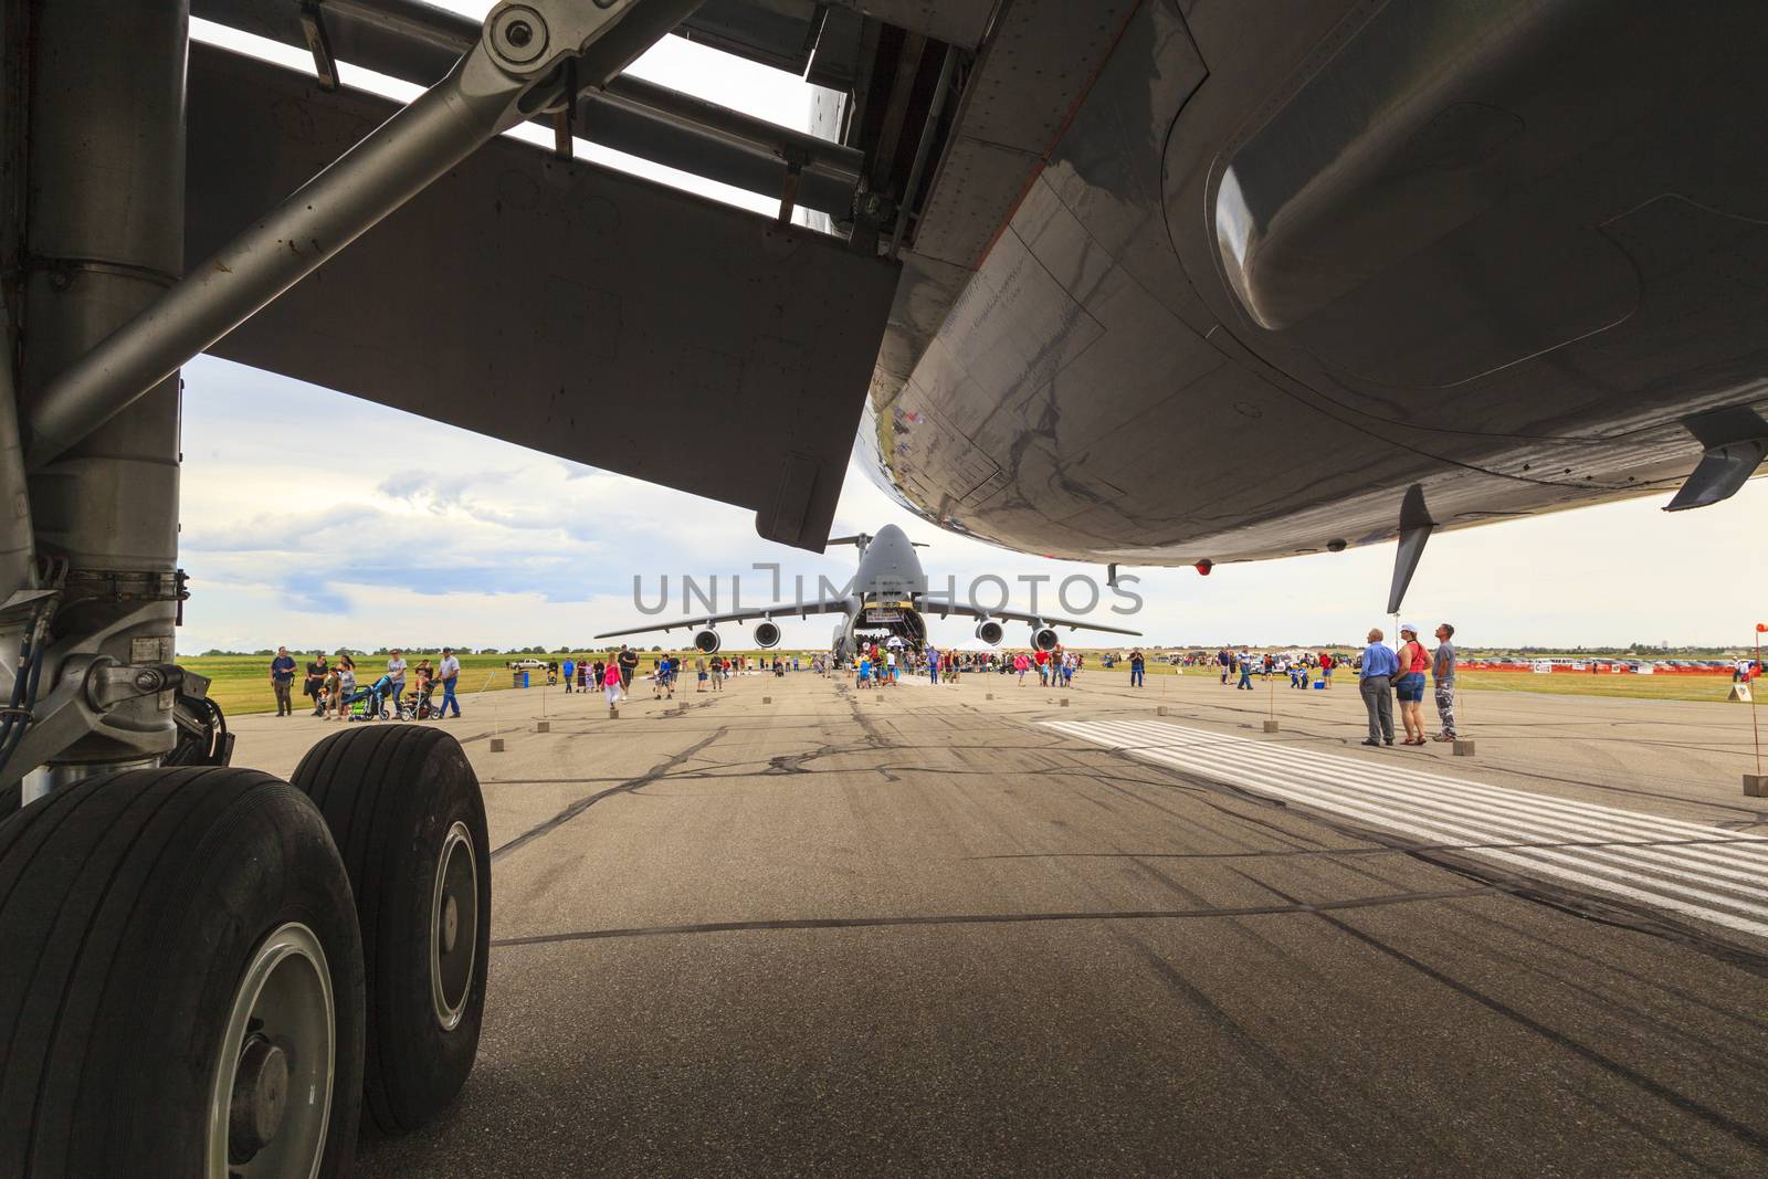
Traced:
<path fill-rule="evenodd" d="M 1149 0 L 974 276 L 905 255 L 861 449 L 1142 564 L 1388 541 L 1414 484 L 1437 529 L 1667 500 L 1685 419 L 1768 405 L 1764 51 L 1750 5 Z M 971 134 L 921 255 L 978 240 Z"/>

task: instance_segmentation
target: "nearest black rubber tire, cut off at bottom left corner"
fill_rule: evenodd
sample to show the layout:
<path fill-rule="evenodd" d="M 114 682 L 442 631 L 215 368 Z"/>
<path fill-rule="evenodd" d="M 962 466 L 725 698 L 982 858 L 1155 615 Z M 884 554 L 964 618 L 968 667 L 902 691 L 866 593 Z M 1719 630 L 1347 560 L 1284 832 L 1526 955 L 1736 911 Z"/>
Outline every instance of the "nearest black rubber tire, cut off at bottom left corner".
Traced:
<path fill-rule="evenodd" d="M 0 824 L 0 1175 L 205 1174 L 233 992 L 288 921 L 318 935 L 336 1036 L 322 1175 L 361 1121 L 362 947 L 325 822 L 251 769 L 92 778 Z"/>

